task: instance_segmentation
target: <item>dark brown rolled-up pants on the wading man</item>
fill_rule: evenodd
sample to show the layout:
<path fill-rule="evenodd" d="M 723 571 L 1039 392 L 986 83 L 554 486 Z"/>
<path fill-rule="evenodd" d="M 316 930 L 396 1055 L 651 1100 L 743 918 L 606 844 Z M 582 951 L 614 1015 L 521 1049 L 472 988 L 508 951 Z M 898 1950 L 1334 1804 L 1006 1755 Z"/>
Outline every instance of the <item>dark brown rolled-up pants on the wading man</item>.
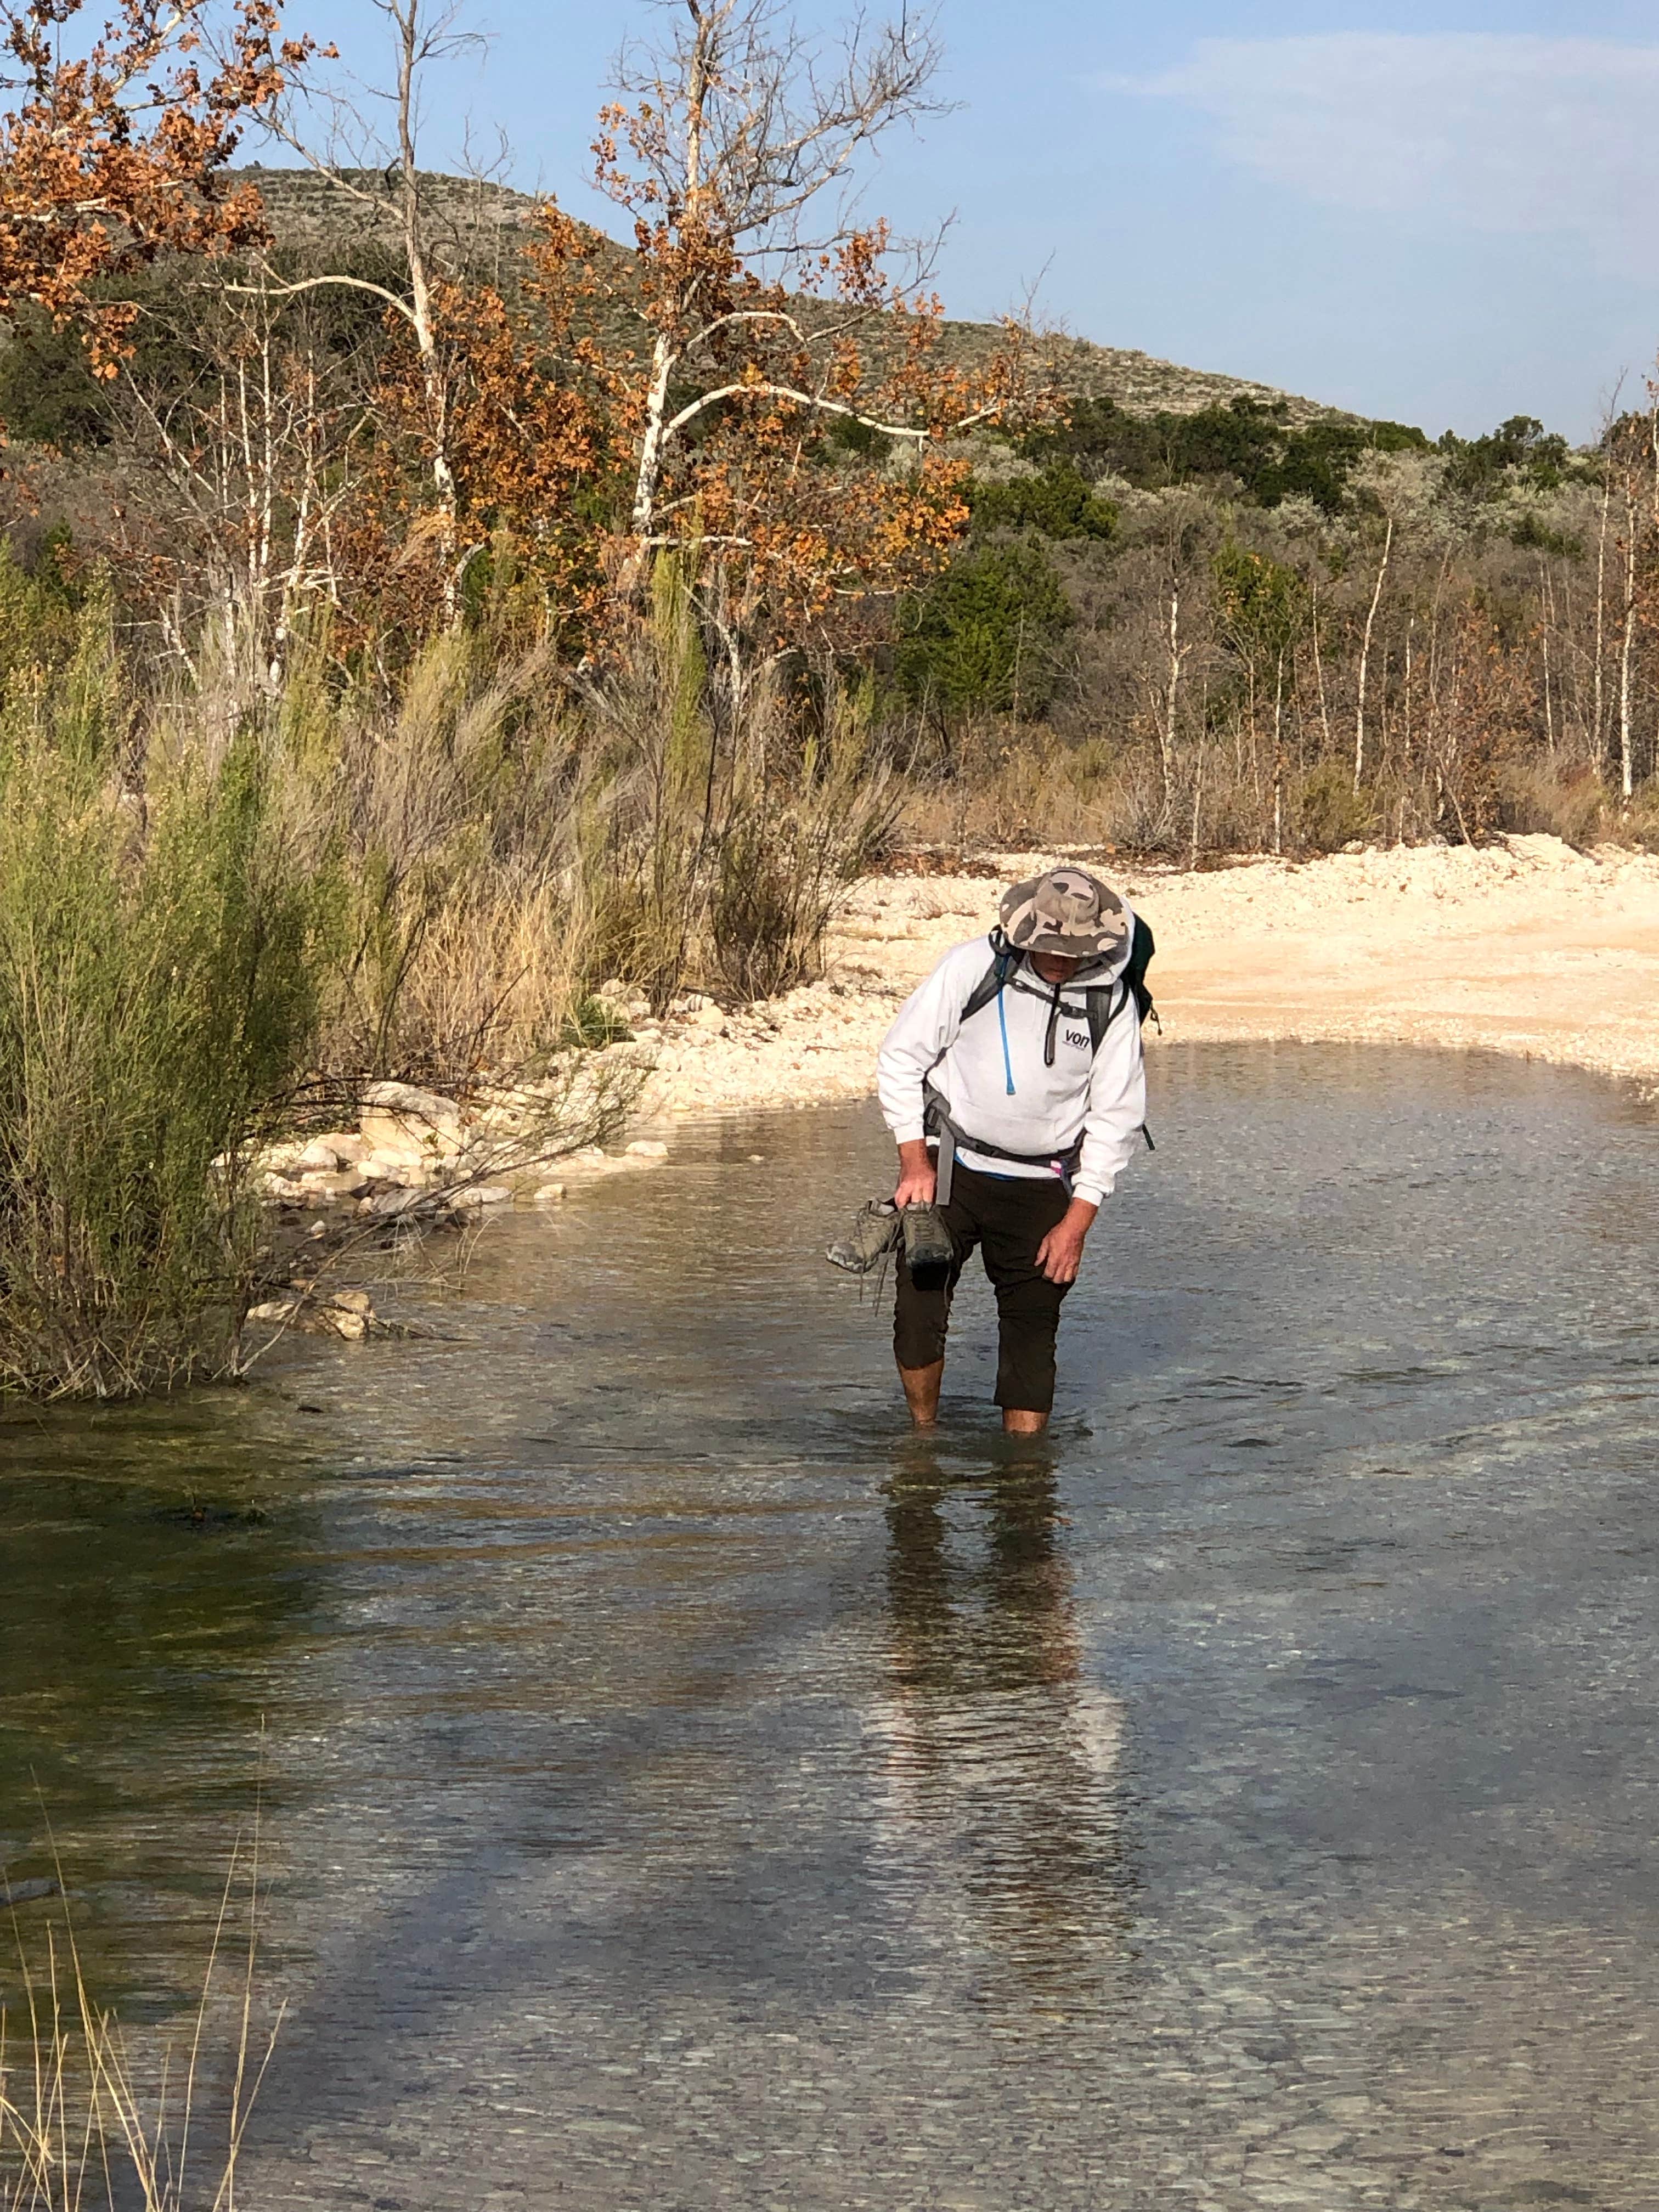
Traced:
<path fill-rule="evenodd" d="M 951 1201 L 940 1206 L 956 1265 L 938 1290 L 918 1290 L 898 1256 L 894 1354 L 900 1367 L 945 1358 L 951 1296 L 978 1245 L 998 1298 L 998 1387 L 1004 1413 L 1048 1413 L 1055 1402 L 1055 1334 L 1071 1283 L 1051 1283 L 1037 1267 L 1037 1245 L 1066 1212 L 1060 1177 L 982 1175 L 958 1159 Z"/>

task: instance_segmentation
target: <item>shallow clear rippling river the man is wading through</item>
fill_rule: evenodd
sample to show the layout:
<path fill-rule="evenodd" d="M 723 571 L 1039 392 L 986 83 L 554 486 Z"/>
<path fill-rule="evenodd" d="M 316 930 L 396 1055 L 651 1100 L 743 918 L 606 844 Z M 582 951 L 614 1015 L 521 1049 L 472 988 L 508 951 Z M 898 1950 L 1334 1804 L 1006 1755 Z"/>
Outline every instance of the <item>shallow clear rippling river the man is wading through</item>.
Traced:
<path fill-rule="evenodd" d="M 1655 1113 L 1155 1086 L 1046 1447 L 978 1279 L 900 1431 L 814 1256 L 874 1108 L 498 1223 L 438 1336 L 7 1418 L 0 1856 L 164 2020 L 261 1796 L 250 2208 L 1659 2203 Z"/>

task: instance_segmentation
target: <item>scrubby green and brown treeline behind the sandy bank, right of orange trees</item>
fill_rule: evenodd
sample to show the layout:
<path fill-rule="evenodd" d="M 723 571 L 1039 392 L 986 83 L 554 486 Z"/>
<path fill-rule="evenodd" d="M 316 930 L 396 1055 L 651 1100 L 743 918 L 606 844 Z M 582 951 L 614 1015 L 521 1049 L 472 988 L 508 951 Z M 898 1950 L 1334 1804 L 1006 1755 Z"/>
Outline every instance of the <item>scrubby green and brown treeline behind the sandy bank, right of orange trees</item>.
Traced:
<path fill-rule="evenodd" d="M 1648 838 L 1652 429 L 1084 403 L 980 440 L 967 549 L 891 655 L 942 768 L 925 821 L 1188 856 Z"/>

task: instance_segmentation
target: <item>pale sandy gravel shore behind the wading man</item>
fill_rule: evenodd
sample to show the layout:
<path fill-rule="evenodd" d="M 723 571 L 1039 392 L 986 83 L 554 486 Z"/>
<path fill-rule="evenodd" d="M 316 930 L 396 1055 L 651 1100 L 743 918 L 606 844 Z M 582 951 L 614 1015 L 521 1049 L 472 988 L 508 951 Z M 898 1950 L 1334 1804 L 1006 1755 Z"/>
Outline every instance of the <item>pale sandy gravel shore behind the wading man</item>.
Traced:
<path fill-rule="evenodd" d="M 641 1119 L 810 1106 L 874 1088 L 894 1006 L 940 953 L 987 931 L 1000 878 L 872 876 L 825 982 L 741 1013 L 670 1018 Z M 1548 836 L 1305 865 L 1106 869 L 1157 933 L 1164 1040 L 1482 1046 L 1659 1084 L 1659 858 Z M 1148 1029 L 1148 1046 L 1159 1037 Z"/>

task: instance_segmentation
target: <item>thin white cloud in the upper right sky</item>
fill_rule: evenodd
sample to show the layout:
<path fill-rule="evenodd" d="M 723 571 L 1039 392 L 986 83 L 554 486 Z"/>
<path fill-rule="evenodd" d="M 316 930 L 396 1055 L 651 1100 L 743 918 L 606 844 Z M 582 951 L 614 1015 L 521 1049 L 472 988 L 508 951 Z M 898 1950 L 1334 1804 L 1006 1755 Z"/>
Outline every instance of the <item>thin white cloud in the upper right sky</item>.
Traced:
<path fill-rule="evenodd" d="M 1157 77 L 1221 150 L 1340 208 L 1484 232 L 1568 232 L 1659 272 L 1659 46 L 1493 33 L 1201 40 Z"/>

